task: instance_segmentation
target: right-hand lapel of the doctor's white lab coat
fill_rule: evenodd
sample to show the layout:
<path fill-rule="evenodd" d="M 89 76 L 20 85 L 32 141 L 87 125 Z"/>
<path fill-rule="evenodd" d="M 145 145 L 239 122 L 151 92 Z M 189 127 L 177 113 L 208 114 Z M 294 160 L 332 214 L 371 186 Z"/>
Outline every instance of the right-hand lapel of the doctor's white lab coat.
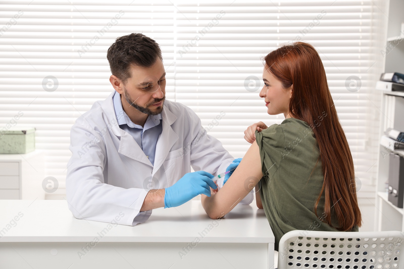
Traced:
<path fill-rule="evenodd" d="M 179 138 L 177 134 L 174 132 L 173 128 L 171 128 L 171 124 L 174 123 L 177 117 L 171 111 L 168 110 L 167 106 L 164 106 L 161 115 L 163 120 L 162 123 L 163 130 L 160 137 L 158 138 L 156 145 L 156 155 L 154 158 L 153 175 L 164 163 L 168 155 L 168 152 Z"/>

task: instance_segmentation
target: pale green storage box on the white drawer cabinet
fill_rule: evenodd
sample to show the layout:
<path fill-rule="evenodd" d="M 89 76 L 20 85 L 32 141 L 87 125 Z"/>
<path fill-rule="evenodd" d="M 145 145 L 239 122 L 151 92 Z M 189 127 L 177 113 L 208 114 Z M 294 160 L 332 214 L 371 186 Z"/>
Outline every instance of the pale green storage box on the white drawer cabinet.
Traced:
<path fill-rule="evenodd" d="M 34 127 L 0 129 L 0 153 L 23 154 L 35 150 Z"/>

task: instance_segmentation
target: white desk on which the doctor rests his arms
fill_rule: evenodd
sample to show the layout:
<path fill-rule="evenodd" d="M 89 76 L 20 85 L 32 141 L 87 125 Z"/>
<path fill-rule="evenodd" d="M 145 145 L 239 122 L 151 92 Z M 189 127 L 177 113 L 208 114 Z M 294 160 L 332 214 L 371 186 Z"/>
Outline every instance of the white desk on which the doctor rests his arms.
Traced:
<path fill-rule="evenodd" d="M 191 200 L 134 227 L 76 219 L 65 200 L 0 200 L 0 212 L 2 269 L 274 268 L 274 234 L 254 203 L 213 220 Z"/>

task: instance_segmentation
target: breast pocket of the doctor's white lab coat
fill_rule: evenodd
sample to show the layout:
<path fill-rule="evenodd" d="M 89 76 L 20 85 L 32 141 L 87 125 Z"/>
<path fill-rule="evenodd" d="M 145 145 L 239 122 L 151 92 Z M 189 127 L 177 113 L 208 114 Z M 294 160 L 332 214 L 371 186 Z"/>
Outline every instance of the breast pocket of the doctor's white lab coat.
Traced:
<path fill-rule="evenodd" d="M 182 148 L 168 152 L 166 160 L 163 163 L 168 186 L 173 186 L 185 174 L 185 171 L 183 171 L 183 161 Z"/>

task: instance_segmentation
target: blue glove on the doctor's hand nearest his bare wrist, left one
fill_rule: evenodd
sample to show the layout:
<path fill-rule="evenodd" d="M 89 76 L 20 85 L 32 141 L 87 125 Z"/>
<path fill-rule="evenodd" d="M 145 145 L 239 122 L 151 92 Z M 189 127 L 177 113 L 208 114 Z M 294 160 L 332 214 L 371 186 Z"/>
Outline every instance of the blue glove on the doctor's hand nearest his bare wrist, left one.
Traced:
<path fill-rule="evenodd" d="M 164 208 L 179 206 L 199 194 L 210 196 L 209 187 L 217 189 L 213 177 L 205 171 L 186 173 L 173 186 L 166 188 Z"/>

